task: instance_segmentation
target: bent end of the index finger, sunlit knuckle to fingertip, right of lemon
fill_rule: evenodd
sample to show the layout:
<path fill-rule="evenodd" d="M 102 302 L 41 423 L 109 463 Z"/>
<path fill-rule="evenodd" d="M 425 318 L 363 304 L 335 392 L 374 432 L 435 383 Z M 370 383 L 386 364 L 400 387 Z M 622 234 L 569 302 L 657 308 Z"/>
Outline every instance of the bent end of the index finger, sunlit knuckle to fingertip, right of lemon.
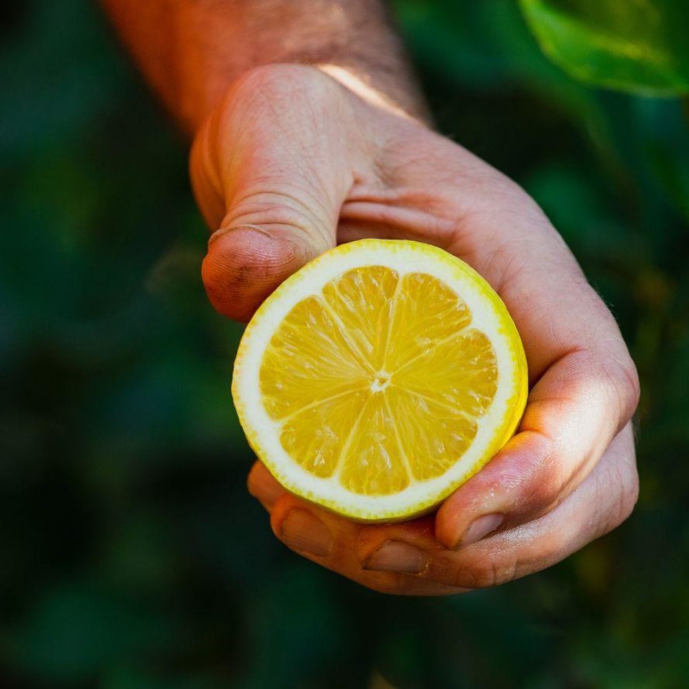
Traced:
<path fill-rule="evenodd" d="M 517 435 L 441 506 L 440 542 L 457 548 L 550 511 L 593 469 L 636 404 L 626 372 L 610 362 L 586 353 L 557 362 L 531 391 Z"/>

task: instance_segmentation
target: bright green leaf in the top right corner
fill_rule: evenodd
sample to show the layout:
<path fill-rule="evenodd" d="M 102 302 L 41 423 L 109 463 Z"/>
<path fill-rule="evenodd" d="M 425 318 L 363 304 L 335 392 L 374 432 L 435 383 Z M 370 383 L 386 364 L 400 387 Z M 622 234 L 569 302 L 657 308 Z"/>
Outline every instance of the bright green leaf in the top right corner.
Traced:
<path fill-rule="evenodd" d="M 689 92 L 689 3 L 520 0 L 541 48 L 587 83 L 652 96 Z"/>

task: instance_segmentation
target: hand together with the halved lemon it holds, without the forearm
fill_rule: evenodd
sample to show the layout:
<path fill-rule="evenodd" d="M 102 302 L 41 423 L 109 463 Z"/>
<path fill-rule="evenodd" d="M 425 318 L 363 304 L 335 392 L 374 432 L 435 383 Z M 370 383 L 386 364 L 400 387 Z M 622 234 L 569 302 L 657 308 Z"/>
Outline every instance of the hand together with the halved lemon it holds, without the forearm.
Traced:
<path fill-rule="evenodd" d="M 259 463 L 249 489 L 285 544 L 376 590 L 452 593 L 544 568 L 617 526 L 635 503 L 629 420 L 638 383 L 615 321 L 521 189 L 351 76 L 331 75 L 253 70 L 196 137 L 192 181 L 216 230 L 203 265 L 210 300 L 248 320 L 337 243 L 435 245 L 504 301 L 531 393 L 517 434 L 461 484 L 521 411 L 524 371 L 509 316 L 473 271 L 434 249 L 342 247 L 266 302 L 234 381 L 252 444 L 309 501 Z M 400 304 L 404 318 L 395 316 Z M 366 307 L 371 318 L 362 318 Z M 302 341 L 316 349 L 290 369 L 280 356 L 309 322 Z M 316 342 L 313 333 L 329 335 Z M 329 378 L 316 365 L 324 360 L 341 364 Z M 468 371 L 462 385 L 458 368 Z M 312 387 L 309 370 L 318 373 Z M 318 429 L 328 432 L 309 433 Z M 399 519 L 457 484 L 437 513 L 393 524 L 315 504 Z"/>

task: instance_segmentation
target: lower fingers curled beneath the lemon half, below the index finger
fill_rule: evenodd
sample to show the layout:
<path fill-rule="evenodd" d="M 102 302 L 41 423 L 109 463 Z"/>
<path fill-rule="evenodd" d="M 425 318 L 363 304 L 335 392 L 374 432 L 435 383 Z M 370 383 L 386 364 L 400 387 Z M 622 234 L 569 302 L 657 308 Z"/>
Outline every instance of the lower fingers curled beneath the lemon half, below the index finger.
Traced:
<path fill-rule="evenodd" d="M 457 551 L 438 544 L 432 516 L 357 524 L 283 491 L 258 463 L 249 486 L 262 502 L 273 503 L 271 526 L 278 538 L 313 562 L 384 593 L 445 595 L 502 584 L 559 562 L 628 517 L 638 479 L 627 426 L 588 479 L 553 511 Z"/>

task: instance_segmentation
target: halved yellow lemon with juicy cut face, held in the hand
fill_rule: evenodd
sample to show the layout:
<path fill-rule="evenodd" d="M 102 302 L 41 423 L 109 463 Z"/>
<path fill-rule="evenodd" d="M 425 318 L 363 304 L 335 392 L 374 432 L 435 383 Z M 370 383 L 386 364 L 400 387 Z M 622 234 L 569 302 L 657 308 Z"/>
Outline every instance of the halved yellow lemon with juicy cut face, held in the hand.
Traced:
<path fill-rule="evenodd" d="M 365 239 L 311 261 L 256 311 L 232 394 L 289 491 L 358 520 L 428 511 L 513 435 L 526 358 L 495 291 L 418 242 Z"/>

